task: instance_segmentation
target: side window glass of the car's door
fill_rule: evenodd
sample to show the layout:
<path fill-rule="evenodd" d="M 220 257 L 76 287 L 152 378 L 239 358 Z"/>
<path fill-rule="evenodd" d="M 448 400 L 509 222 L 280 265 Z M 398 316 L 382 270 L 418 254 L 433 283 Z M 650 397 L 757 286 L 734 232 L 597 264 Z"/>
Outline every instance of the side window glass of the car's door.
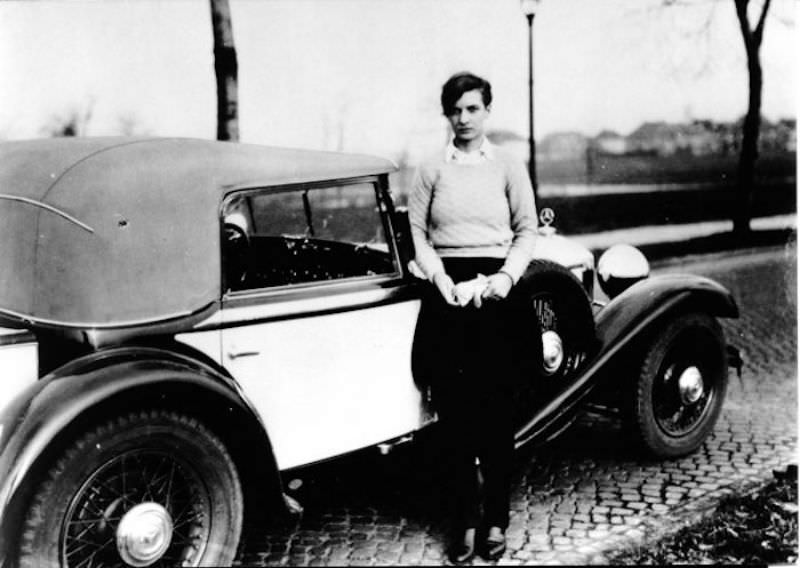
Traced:
<path fill-rule="evenodd" d="M 223 212 L 228 291 L 398 272 L 372 183 L 250 192 Z"/>

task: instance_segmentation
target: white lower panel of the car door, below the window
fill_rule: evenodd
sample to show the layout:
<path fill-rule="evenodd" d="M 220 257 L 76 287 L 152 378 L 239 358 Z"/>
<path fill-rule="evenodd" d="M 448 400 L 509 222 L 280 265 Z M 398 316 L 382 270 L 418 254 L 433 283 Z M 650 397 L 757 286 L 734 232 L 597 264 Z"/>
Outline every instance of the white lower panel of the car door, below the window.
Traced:
<path fill-rule="evenodd" d="M 279 469 L 397 438 L 430 419 L 411 374 L 419 307 L 404 301 L 222 330 L 224 364 L 260 414 Z M 222 318 L 265 310 L 281 303 L 223 309 Z"/>

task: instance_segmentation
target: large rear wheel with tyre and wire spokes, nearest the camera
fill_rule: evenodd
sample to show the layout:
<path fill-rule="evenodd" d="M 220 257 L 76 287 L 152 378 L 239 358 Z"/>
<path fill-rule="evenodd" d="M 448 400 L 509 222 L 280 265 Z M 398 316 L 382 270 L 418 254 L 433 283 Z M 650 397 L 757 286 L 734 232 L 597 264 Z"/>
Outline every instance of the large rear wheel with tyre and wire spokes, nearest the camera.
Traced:
<path fill-rule="evenodd" d="M 193 418 L 130 414 L 84 434 L 38 488 L 20 566 L 228 565 L 242 492 L 222 442 Z"/>

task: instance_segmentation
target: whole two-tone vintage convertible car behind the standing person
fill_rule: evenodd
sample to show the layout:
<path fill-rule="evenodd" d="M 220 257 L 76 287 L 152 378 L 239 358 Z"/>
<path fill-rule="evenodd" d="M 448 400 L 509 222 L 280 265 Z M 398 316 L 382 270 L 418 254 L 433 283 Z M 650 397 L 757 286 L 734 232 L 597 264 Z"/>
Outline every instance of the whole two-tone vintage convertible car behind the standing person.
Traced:
<path fill-rule="evenodd" d="M 436 423 L 424 283 L 384 159 L 188 139 L 0 145 L 0 565 L 230 563 L 282 475 Z M 518 443 L 586 403 L 658 456 L 713 428 L 731 295 L 601 257 L 551 212 L 518 286 L 542 357 Z"/>

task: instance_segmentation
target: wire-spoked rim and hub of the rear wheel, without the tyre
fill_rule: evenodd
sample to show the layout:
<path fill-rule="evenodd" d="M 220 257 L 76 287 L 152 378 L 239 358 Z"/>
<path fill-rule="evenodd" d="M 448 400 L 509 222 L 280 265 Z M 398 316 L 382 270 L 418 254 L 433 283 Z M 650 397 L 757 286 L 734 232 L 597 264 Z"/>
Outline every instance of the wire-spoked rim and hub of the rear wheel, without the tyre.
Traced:
<path fill-rule="evenodd" d="M 99 468 L 62 525 L 62 565 L 170 565 L 202 556 L 211 498 L 197 473 L 166 452 L 135 450 Z"/>

